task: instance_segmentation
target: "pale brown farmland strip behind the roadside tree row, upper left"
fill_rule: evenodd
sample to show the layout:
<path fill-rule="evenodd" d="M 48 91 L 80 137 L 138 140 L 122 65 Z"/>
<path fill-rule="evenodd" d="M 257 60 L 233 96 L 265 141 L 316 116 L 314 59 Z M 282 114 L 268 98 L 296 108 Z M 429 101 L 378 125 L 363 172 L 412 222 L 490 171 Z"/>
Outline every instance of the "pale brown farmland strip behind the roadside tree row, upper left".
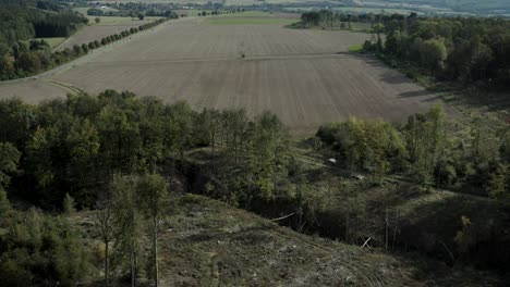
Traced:
<path fill-rule="evenodd" d="M 132 20 L 131 17 L 100 17 L 101 22 L 96 24 L 94 18 L 90 17 L 90 25 L 84 26 L 75 35 L 68 38 L 61 45 L 57 46 L 54 50 L 61 51 L 65 48 L 72 49 L 74 45 L 88 43 L 94 40 L 100 41 L 102 38 L 110 35 L 120 34 L 123 30 L 135 28 L 141 25 L 150 23 L 155 18 L 138 18 Z"/>

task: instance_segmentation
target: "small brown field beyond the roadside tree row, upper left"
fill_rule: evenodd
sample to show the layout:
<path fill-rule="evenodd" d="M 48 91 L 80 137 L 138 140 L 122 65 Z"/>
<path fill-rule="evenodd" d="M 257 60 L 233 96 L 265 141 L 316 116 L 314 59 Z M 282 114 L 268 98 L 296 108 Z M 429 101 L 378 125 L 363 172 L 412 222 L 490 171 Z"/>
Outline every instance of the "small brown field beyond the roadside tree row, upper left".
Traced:
<path fill-rule="evenodd" d="M 123 30 L 138 27 L 141 25 L 150 23 L 149 20 L 131 20 L 125 17 L 125 22 L 121 25 L 92 25 L 84 26 L 82 29 L 76 32 L 73 36 L 69 37 L 65 41 L 54 48 L 56 51 L 62 51 L 65 48 L 72 49 L 74 45 L 88 43 L 94 40 L 100 41 L 102 38 L 110 35 L 119 34 Z"/>

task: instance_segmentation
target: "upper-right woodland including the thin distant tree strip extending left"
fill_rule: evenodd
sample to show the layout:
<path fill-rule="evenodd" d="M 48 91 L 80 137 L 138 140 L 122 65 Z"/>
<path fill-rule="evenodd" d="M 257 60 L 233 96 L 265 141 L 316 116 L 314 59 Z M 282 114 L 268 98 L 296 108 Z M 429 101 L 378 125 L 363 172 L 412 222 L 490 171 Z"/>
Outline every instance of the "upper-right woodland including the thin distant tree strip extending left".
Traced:
<path fill-rule="evenodd" d="M 320 11 L 304 13 L 302 22 L 323 27 L 371 23 L 376 37 L 365 43 L 365 50 L 404 68 L 412 78 L 427 76 L 461 86 L 509 88 L 510 22 L 505 18 L 344 15 Z"/>

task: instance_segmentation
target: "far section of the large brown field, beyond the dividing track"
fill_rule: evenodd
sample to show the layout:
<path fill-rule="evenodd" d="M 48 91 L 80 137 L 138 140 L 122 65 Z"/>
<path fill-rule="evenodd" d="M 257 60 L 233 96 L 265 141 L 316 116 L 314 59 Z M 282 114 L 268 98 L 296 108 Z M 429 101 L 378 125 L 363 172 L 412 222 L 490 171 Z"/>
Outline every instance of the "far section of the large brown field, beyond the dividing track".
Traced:
<path fill-rule="evenodd" d="M 203 18 L 182 20 L 94 63 L 238 59 L 241 52 L 246 58 L 331 54 L 344 52 L 367 38 L 367 34 L 349 32 L 289 29 L 272 24 L 207 25 Z"/>

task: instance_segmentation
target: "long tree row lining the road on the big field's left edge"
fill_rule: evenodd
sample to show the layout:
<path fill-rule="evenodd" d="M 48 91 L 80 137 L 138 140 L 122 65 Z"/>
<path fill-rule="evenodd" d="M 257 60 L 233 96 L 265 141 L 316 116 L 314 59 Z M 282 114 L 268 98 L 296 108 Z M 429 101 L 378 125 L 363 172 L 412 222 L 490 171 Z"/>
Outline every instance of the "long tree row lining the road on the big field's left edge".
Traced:
<path fill-rule="evenodd" d="M 0 80 L 15 79 L 37 74 L 41 71 L 64 64 L 73 59 L 87 54 L 90 50 L 109 45 L 125 37 L 130 37 L 144 29 L 149 29 L 163 23 L 160 18 L 151 23 L 110 35 L 101 40 L 88 43 L 74 45 L 72 49 L 52 52 L 44 40 L 19 40 L 11 47 L 0 42 Z"/>

